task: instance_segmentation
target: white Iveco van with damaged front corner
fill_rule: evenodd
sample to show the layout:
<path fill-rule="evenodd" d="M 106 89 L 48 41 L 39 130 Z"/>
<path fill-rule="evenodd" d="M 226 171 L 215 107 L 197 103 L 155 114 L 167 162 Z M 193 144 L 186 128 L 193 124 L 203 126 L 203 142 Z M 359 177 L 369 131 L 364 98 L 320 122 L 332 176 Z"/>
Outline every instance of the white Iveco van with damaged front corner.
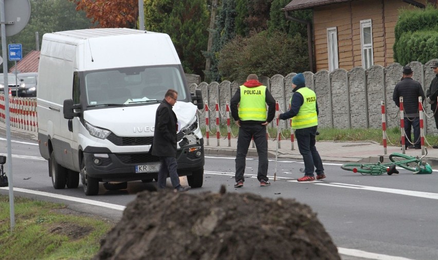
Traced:
<path fill-rule="evenodd" d="M 37 92 L 38 139 L 55 189 L 86 195 L 157 178 L 152 156 L 155 112 L 169 88 L 178 91 L 178 174 L 192 188 L 204 179 L 204 140 L 169 35 L 133 29 L 84 29 L 43 36 Z M 196 101 L 196 102 L 195 102 Z M 195 102 L 194 105 L 192 102 Z"/>

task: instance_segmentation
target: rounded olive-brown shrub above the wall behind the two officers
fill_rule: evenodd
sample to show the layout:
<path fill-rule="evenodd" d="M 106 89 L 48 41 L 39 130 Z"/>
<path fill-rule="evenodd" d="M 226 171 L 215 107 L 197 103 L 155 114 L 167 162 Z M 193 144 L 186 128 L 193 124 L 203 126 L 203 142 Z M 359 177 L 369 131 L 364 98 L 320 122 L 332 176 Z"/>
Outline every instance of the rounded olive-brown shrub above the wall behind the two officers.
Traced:
<path fill-rule="evenodd" d="M 275 74 L 308 70 L 305 39 L 299 34 L 291 38 L 276 31 L 252 31 L 247 38 L 236 36 L 218 55 L 218 70 L 222 80 L 244 82 L 251 74 L 271 77 Z"/>

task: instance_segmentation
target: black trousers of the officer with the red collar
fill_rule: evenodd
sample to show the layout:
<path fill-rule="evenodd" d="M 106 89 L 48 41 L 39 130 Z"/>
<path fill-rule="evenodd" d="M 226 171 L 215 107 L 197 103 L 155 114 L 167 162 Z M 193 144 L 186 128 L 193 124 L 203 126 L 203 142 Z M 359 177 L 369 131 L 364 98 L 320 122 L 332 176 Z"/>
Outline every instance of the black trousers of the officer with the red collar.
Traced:
<path fill-rule="evenodd" d="M 262 124 L 242 124 L 239 127 L 239 137 L 236 154 L 236 174 L 235 180 L 244 179 L 246 154 L 248 153 L 251 139 L 254 138 L 255 147 L 259 154 L 259 170 L 257 171 L 257 179 L 259 181 L 268 181 L 268 141 L 266 140 L 266 126 Z"/>

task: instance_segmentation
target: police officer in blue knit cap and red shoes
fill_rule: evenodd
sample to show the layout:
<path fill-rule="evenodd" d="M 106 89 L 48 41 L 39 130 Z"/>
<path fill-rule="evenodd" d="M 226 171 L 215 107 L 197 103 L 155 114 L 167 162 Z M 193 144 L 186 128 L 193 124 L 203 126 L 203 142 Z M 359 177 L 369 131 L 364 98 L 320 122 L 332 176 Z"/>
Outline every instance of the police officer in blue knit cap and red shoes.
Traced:
<path fill-rule="evenodd" d="M 298 181 L 314 181 L 325 178 L 321 157 L 315 147 L 315 137 L 318 127 L 318 104 L 315 92 L 305 86 L 306 82 L 302 73 L 292 78 L 292 91 L 290 109 L 280 114 L 280 119 L 292 118 L 291 128 L 295 129 L 298 149 L 304 160 L 304 177 Z M 316 168 L 316 170 L 315 170 Z"/>

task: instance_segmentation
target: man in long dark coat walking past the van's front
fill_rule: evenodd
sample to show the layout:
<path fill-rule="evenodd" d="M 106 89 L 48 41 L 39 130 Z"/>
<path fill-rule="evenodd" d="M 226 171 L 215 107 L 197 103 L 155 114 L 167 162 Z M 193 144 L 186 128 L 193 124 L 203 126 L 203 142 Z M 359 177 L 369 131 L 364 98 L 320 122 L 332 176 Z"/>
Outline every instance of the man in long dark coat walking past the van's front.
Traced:
<path fill-rule="evenodd" d="M 166 188 L 166 178 L 169 174 L 172 186 L 179 192 L 190 190 L 179 183 L 176 172 L 176 115 L 172 110 L 178 98 L 178 92 L 169 89 L 165 98 L 158 106 L 155 114 L 154 141 L 152 143 L 152 155 L 160 157 L 160 171 L 158 173 L 158 189 Z"/>

